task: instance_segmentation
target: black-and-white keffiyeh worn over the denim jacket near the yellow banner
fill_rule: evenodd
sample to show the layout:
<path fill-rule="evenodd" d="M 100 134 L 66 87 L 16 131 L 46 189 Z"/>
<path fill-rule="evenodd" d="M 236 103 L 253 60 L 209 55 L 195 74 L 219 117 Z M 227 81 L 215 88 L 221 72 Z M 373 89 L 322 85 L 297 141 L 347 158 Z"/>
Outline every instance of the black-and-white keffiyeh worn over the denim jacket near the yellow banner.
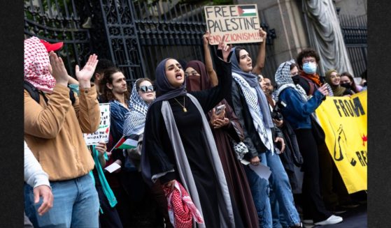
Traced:
<path fill-rule="evenodd" d="M 280 93 L 284 89 L 290 87 L 296 90 L 300 94 L 301 100 L 306 102 L 307 101 L 306 91 L 304 91 L 304 89 L 299 84 L 295 85 L 292 77 L 290 77 L 290 65 L 292 63 L 294 63 L 293 60 L 281 63 L 280 66 L 278 66 L 276 75 L 274 75 L 277 84 L 276 101 L 278 101 L 278 96 L 280 96 Z"/>

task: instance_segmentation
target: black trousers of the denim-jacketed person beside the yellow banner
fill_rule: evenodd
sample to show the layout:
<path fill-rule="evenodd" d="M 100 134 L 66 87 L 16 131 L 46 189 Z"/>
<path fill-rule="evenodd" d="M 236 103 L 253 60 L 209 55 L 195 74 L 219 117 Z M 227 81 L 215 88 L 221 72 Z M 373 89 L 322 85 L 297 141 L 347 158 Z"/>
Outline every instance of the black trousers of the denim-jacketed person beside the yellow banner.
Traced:
<path fill-rule="evenodd" d="M 311 129 L 297 129 L 294 132 L 304 160 L 302 165 L 304 171 L 302 187 L 304 219 L 312 218 L 314 222 L 326 220 L 332 213 L 326 210 L 320 195 L 318 146 Z"/>

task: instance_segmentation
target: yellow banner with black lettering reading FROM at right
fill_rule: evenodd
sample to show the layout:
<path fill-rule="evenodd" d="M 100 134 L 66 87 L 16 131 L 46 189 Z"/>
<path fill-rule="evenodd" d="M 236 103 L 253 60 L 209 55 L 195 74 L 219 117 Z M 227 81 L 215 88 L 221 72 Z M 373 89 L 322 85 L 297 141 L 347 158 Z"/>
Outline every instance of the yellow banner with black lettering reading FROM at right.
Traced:
<path fill-rule="evenodd" d="M 367 190 L 367 91 L 327 97 L 316 109 L 326 144 L 349 193 Z"/>

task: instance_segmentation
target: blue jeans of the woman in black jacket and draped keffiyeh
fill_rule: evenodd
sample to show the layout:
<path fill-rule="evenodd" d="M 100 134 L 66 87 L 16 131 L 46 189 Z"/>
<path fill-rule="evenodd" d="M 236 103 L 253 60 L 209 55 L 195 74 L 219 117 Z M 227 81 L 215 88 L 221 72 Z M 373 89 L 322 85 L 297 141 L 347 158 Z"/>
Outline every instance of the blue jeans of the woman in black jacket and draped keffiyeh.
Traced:
<path fill-rule="evenodd" d="M 298 224 L 300 222 L 299 213 L 297 213 L 294 206 L 289 179 L 279 155 L 267 151 L 259 156 L 262 159 L 262 164 L 271 169 L 270 182 L 260 178 L 248 166 L 245 167 L 245 172 L 253 195 L 255 208 L 257 208 L 260 227 L 273 227 L 272 206 L 275 219 L 279 220 L 280 214 L 283 216 L 284 219 L 280 220 L 280 222 L 282 222 L 284 227 L 285 225 L 293 226 Z M 271 194 L 270 198 L 269 194 Z"/>

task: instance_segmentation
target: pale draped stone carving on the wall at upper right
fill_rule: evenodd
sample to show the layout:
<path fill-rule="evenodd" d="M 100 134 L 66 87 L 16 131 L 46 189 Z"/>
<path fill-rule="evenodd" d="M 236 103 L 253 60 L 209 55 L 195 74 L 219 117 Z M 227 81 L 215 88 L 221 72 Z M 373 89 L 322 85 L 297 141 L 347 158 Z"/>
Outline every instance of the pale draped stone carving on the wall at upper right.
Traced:
<path fill-rule="evenodd" d="M 341 26 L 332 0 L 303 0 L 304 18 L 311 47 L 320 56 L 320 75 L 329 69 L 353 72 Z"/>

